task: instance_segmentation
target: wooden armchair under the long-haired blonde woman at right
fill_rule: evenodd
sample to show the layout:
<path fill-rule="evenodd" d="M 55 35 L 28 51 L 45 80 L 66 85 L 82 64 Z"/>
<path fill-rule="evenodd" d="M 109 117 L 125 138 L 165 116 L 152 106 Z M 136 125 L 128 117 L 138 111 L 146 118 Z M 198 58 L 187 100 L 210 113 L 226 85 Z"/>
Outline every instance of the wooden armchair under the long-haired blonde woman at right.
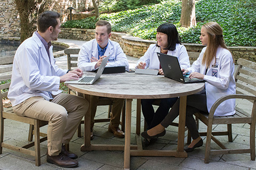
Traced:
<path fill-rule="evenodd" d="M 207 132 L 200 133 L 206 135 L 206 148 L 204 162 L 209 163 L 210 155 L 222 154 L 241 154 L 250 153 L 251 160 L 255 160 L 255 116 L 256 116 L 256 63 L 239 58 L 238 68 L 235 73 L 236 95 L 224 96 L 213 104 L 209 115 L 196 113 L 196 117 L 207 125 Z M 246 113 L 242 108 L 236 106 L 236 113 L 233 116 L 213 116 L 215 109 L 225 100 L 236 98 L 248 100 L 252 103 L 251 114 Z M 246 108 L 249 109 L 249 108 Z M 215 135 L 228 135 L 228 141 L 233 142 L 231 124 L 248 123 L 250 125 L 250 148 L 246 149 L 228 149 Z M 227 131 L 212 132 L 212 125 L 227 124 Z M 211 139 L 219 145 L 222 150 L 211 149 Z"/>

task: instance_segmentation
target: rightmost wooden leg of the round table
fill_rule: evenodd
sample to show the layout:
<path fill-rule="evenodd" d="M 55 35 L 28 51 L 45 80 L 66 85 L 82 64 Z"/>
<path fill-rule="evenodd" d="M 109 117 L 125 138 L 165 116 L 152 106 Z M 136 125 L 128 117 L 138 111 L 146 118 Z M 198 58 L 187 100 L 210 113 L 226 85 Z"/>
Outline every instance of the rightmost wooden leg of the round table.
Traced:
<path fill-rule="evenodd" d="M 185 123 L 186 123 L 186 106 L 187 106 L 187 96 L 180 97 L 180 114 L 179 114 L 179 130 L 178 130 L 178 146 L 177 152 L 185 152 L 184 148 L 184 138 L 185 138 Z"/>

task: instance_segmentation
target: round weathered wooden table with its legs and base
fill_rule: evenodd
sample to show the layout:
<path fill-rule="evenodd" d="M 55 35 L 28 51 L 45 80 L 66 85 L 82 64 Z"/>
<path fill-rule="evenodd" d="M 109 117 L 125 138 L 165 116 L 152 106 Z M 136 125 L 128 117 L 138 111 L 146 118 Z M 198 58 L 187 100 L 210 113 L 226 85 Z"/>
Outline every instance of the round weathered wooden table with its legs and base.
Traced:
<path fill-rule="evenodd" d="M 84 72 L 95 75 L 93 72 Z M 125 145 L 91 145 L 90 113 L 86 113 L 84 125 L 84 145 L 81 150 L 124 150 L 124 169 L 130 169 L 130 156 L 175 156 L 187 157 L 183 151 L 185 137 L 185 119 L 187 96 L 204 89 L 204 83 L 183 84 L 165 78 L 163 75 L 146 75 L 135 73 L 102 74 L 92 85 L 67 84 L 68 88 L 90 95 L 126 99 L 125 113 Z M 137 114 L 137 146 L 131 146 L 131 110 L 132 99 L 157 99 L 180 97 L 180 114 L 177 150 L 143 150 L 140 138 L 140 114 Z M 137 106 L 138 107 L 138 106 Z M 140 107 L 139 107 L 140 108 Z M 89 109 L 90 110 L 90 109 Z M 89 111 L 90 112 L 90 111 Z M 139 111 L 140 113 L 140 111 Z M 138 125 L 139 124 L 139 125 Z M 139 142 L 139 143 L 138 143 Z"/>

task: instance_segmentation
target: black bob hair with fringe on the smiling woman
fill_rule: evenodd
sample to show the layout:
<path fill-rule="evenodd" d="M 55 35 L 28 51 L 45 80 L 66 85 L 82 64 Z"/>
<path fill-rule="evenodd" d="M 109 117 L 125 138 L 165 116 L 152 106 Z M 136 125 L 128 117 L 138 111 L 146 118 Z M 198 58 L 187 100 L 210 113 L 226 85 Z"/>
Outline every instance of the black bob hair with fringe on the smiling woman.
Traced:
<path fill-rule="evenodd" d="M 156 32 L 162 32 L 162 33 L 165 33 L 167 35 L 168 45 L 165 49 L 173 51 L 176 48 L 176 44 L 181 44 L 180 36 L 179 36 L 178 31 L 177 31 L 177 28 L 172 23 L 163 23 L 163 24 L 161 24 L 157 28 Z"/>

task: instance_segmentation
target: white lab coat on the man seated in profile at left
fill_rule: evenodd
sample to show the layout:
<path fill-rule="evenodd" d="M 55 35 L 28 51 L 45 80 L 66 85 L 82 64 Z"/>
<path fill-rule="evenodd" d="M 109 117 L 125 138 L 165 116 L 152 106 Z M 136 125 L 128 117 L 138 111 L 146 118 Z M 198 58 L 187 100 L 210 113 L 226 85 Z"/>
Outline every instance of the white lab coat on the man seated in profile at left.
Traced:
<path fill-rule="evenodd" d="M 8 92 L 12 106 L 34 96 L 42 96 L 50 100 L 52 99 L 50 94 L 57 95 L 61 92 L 60 76 L 66 74 L 67 70 L 55 65 L 52 46 L 49 51 L 51 63 L 42 41 L 35 33 L 19 46 L 13 60 L 12 79 Z"/>

